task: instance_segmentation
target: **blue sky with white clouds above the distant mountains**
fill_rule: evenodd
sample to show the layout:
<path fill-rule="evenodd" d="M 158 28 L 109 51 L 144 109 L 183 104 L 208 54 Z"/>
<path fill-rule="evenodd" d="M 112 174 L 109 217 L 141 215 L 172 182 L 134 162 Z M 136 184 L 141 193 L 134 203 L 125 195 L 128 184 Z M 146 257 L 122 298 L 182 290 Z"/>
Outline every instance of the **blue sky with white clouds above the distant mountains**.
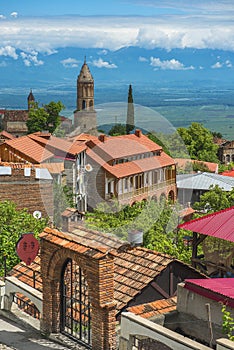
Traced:
<path fill-rule="evenodd" d="M 98 48 L 105 55 L 128 46 L 234 51 L 233 0 L 0 0 L 0 67 L 7 60 L 40 66 L 39 54 L 59 48 Z M 176 59 L 149 62 L 156 69 L 193 69 Z M 116 68 L 103 57 L 95 64 Z M 222 67 L 218 59 L 215 64 Z"/>

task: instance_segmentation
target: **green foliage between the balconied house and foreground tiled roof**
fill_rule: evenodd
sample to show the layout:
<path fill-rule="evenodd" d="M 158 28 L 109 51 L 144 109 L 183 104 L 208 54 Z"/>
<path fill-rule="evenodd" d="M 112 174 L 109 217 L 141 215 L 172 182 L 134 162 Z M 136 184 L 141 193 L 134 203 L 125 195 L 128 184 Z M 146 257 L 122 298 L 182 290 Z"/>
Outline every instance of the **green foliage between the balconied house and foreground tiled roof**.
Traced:
<path fill-rule="evenodd" d="M 144 247 L 188 263 L 191 252 L 183 242 L 185 231 L 176 230 L 180 209 L 179 205 L 172 207 L 167 202 L 137 202 L 133 206 L 122 207 L 114 201 L 112 207 L 102 203 L 94 212 L 88 213 L 86 224 L 89 228 L 111 232 L 125 240 L 130 230 L 142 230 Z"/>

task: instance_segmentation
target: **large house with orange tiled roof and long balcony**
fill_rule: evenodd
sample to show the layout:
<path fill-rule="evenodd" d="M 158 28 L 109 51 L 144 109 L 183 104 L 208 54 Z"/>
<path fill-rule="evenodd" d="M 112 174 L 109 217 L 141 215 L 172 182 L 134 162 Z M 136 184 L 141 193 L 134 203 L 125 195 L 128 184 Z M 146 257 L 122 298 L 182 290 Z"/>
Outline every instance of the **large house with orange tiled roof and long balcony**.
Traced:
<path fill-rule="evenodd" d="M 86 141 L 88 206 L 116 198 L 125 205 L 147 199 L 176 199 L 176 166 L 161 146 L 140 130 Z"/>

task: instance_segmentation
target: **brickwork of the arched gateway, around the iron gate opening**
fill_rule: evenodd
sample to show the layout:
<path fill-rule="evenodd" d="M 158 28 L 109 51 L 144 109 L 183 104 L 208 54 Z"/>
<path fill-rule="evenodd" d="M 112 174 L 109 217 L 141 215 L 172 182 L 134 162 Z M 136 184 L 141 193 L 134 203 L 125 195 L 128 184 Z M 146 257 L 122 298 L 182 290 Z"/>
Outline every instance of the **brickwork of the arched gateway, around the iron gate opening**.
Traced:
<path fill-rule="evenodd" d="M 92 349 L 115 350 L 116 304 L 114 302 L 113 259 L 104 254 L 101 259 L 95 259 L 64 248 L 62 245 L 47 241 L 44 234 L 41 239 L 43 283 L 41 330 L 46 333 L 60 331 L 60 279 L 62 268 L 68 258 L 80 266 L 88 283 L 91 301 Z"/>

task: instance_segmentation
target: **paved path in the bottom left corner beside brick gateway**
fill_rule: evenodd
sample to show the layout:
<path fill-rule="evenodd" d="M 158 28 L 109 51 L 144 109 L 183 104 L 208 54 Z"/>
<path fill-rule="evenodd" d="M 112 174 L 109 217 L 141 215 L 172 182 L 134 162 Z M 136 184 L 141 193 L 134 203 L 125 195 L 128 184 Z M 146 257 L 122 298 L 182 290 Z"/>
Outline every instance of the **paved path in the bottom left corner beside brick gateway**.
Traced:
<path fill-rule="evenodd" d="M 56 342 L 45 339 L 31 326 L 27 328 L 0 316 L 0 350 L 69 350 Z M 79 347 L 78 347 L 79 349 Z"/>

